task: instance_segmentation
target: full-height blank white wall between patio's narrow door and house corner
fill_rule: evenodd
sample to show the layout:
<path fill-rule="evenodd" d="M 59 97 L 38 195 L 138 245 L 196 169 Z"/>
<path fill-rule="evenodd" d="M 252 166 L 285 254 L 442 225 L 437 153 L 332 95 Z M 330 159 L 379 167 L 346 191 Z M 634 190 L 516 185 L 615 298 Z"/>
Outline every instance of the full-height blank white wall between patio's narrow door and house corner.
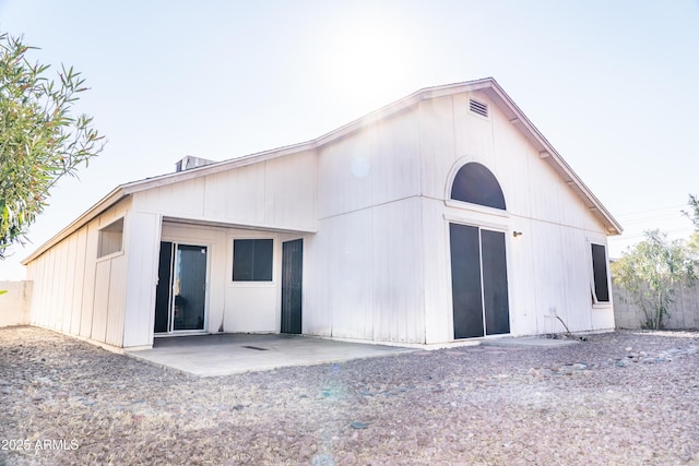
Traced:
<path fill-rule="evenodd" d="M 404 111 L 319 148 L 304 332 L 425 342 L 418 130 Z"/>

